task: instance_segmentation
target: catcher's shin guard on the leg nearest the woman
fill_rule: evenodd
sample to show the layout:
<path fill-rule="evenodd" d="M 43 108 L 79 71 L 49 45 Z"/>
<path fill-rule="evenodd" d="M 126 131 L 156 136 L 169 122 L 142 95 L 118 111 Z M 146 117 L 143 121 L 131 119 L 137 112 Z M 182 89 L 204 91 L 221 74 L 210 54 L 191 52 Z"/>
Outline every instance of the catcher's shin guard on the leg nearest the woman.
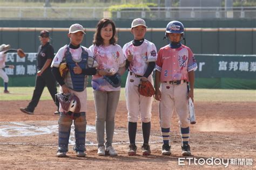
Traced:
<path fill-rule="evenodd" d="M 85 113 L 81 112 L 80 117 L 75 119 L 76 145 L 73 148 L 74 151 L 85 151 L 86 123 Z"/>

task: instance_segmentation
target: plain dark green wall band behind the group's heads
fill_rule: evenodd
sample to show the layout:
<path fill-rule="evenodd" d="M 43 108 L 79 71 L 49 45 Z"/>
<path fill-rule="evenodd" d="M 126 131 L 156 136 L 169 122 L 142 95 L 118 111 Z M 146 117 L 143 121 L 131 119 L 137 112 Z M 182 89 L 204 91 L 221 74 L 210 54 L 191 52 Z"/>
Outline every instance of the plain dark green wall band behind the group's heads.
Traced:
<path fill-rule="evenodd" d="M 51 44 L 55 52 L 70 40 L 67 36 L 68 28 L 1 28 L 0 44 L 10 44 L 13 48 L 22 48 L 25 52 L 37 52 L 39 46 L 38 35 L 42 29 L 48 29 Z M 92 45 L 95 29 L 86 29 L 82 45 Z M 163 40 L 165 29 L 149 28 L 145 38 L 156 44 L 157 49 L 168 42 Z M 133 39 L 130 29 L 117 28 L 118 44 L 123 46 Z M 196 54 L 256 54 L 256 28 L 186 28 L 186 45 Z M 183 41 L 184 43 L 184 41 Z"/>

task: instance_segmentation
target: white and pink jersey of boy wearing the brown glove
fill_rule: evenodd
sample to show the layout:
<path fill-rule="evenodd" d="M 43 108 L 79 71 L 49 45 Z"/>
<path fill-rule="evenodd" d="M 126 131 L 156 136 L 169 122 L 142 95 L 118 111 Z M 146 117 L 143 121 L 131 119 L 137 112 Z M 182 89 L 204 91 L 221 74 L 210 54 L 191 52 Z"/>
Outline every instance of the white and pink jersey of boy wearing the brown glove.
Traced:
<path fill-rule="evenodd" d="M 146 72 L 147 64 L 157 61 L 157 48 L 152 42 L 146 39 L 140 46 L 134 46 L 132 41 L 126 43 L 123 47 L 126 58 L 129 55 L 129 50 L 133 55 L 129 70 L 134 74 L 143 76 Z"/>

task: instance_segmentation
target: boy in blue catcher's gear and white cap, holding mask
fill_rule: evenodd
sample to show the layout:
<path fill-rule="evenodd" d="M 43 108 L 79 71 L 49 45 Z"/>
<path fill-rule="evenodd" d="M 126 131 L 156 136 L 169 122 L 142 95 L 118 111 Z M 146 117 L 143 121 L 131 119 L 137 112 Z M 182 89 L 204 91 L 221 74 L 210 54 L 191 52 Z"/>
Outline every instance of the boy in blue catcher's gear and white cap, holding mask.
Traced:
<path fill-rule="evenodd" d="M 57 94 L 60 101 L 57 157 L 65 157 L 68 152 L 73 119 L 76 138 L 73 150 L 76 151 L 78 157 L 85 157 L 87 76 L 96 74 L 95 67 L 98 66 L 98 63 L 91 61 L 91 51 L 80 45 L 84 34 L 82 25 L 71 25 L 68 33 L 70 44 L 59 49 L 51 64 L 52 73 L 60 84 L 60 94 Z M 68 66 L 68 72 L 61 74 L 63 77 L 59 72 L 62 62 Z"/>

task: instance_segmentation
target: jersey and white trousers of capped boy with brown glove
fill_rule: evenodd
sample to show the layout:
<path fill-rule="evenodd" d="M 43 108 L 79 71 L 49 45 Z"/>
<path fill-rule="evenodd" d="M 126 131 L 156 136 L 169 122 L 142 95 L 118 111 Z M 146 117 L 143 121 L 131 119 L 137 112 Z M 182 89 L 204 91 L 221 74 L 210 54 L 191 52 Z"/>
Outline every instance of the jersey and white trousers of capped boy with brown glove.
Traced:
<path fill-rule="evenodd" d="M 139 94 L 138 85 L 140 83 L 140 77 L 136 77 L 136 75 L 143 76 L 148 63 L 157 60 L 157 48 L 152 42 L 145 39 L 140 46 L 134 46 L 132 41 L 128 42 L 124 45 L 123 51 L 126 58 L 129 55 L 129 51 L 133 55 L 129 67 L 130 72 L 125 84 L 128 121 L 137 122 L 140 116 L 142 122 L 150 122 L 153 97 L 146 97 Z M 150 74 L 148 80 L 151 84 L 154 84 L 152 74 Z"/>

